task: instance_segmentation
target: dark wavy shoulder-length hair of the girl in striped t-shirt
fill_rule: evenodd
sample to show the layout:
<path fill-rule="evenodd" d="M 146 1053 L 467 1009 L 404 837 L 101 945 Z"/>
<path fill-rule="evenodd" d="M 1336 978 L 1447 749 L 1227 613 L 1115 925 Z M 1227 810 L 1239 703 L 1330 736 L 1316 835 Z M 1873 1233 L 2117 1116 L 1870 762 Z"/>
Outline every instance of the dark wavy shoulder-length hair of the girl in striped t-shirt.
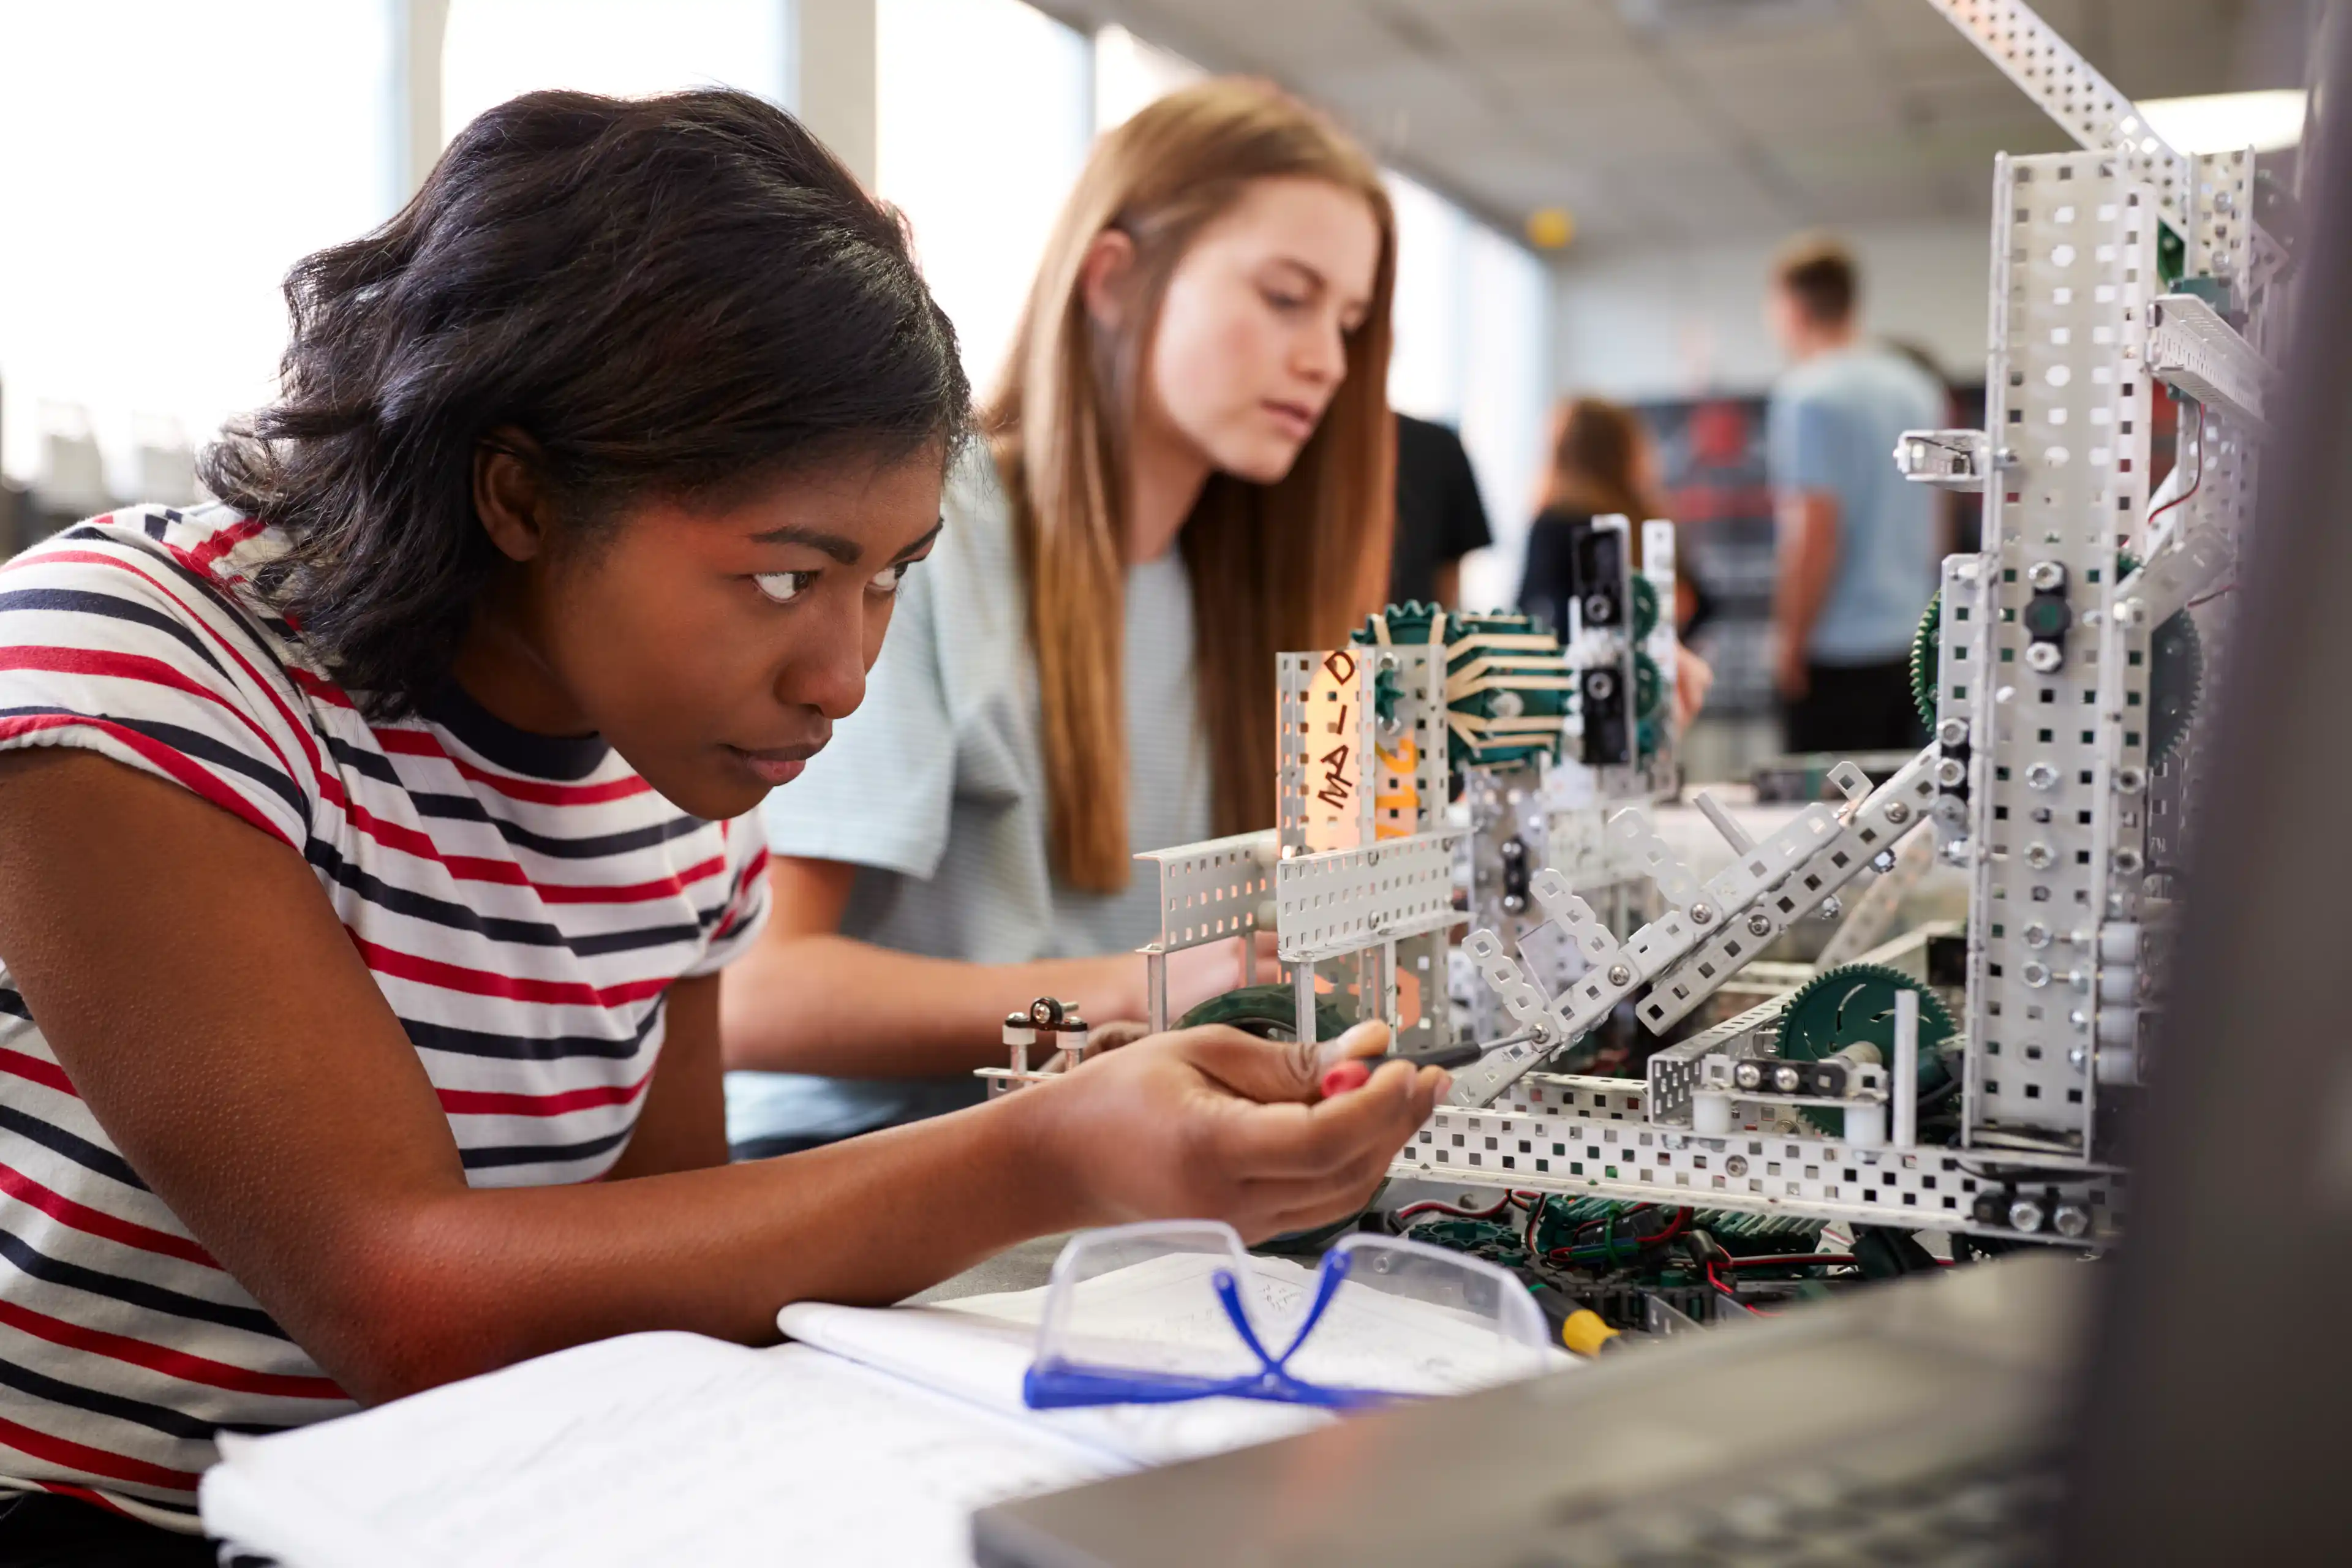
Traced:
<path fill-rule="evenodd" d="M 971 418 L 903 226 L 741 92 L 501 103 L 285 296 L 282 393 L 200 475 L 292 538 L 261 588 L 379 719 L 447 679 L 503 562 L 473 508 L 494 433 L 593 529 L 649 494 L 953 454 Z"/>

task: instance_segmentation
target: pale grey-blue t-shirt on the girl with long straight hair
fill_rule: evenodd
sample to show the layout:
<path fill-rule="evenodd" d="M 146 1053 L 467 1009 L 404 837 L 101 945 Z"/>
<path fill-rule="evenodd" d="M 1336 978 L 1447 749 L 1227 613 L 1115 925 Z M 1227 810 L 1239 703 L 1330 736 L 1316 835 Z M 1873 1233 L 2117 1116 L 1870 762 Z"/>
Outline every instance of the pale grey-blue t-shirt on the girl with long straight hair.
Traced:
<path fill-rule="evenodd" d="M 1028 585 L 985 451 L 960 463 L 931 557 L 898 588 L 866 703 L 767 797 L 769 851 L 858 867 L 842 933 L 974 964 L 1096 957 L 1160 936 L 1160 889 L 1082 893 L 1047 860 Z M 1209 837 L 1209 755 L 1183 559 L 1127 569 L 1127 839 Z M 1148 872 L 1150 867 L 1138 867 Z M 873 1041 L 880 1051 L 887 1041 Z M 847 1138 L 981 1100 L 981 1079 L 729 1072 L 727 1138 Z"/>

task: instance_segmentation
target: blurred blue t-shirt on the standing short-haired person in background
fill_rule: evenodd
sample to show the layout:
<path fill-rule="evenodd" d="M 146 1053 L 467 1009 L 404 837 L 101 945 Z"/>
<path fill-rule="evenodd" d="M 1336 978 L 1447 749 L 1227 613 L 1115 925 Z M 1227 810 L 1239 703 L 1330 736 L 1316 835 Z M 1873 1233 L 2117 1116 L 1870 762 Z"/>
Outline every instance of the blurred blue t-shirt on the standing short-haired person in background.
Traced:
<path fill-rule="evenodd" d="M 1837 498 L 1837 576 L 1806 644 L 1816 663 L 1865 665 L 1910 651 L 1938 583 L 1936 491 L 1907 482 L 1893 451 L 1905 430 L 1943 423 L 1943 388 L 1867 343 L 1806 360 L 1773 388 L 1773 489 Z"/>

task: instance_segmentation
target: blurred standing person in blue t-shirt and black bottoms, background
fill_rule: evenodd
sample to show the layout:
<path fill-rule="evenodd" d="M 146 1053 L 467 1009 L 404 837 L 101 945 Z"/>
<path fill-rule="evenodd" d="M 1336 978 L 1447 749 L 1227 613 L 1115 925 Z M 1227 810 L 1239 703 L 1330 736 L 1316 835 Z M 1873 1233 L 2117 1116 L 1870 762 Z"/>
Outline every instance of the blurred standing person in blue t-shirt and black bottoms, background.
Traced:
<path fill-rule="evenodd" d="M 1907 750 L 1924 741 L 1910 642 L 1936 592 L 1936 491 L 1896 473 L 1903 430 L 1945 423 L 1945 388 L 1860 336 L 1844 244 L 1790 242 L 1764 317 L 1792 360 L 1773 386 L 1766 465 L 1778 522 L 1773 689 L 1790 752 Z"/>

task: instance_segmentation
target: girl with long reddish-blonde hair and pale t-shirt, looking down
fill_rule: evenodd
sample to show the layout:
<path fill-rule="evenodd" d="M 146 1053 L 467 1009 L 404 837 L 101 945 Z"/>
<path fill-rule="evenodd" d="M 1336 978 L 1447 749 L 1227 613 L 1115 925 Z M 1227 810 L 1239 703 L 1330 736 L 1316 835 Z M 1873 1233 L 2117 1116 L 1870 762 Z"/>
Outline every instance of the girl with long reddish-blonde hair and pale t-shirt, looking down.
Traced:
<path fill-rule="evenodd" d="M 1395 254 L 1374 165 L 1270 85 L 1094 148 L 866 708 L 769 799 L 739 1154 L 974 1100 L 1037 994 L 1145 1011 L 1131 856 L 1272 825 L 1272 656 L 1388 578 Z M 1171 1006 L 1240 973 L 1232 943 L 1178 954 Z"/>

